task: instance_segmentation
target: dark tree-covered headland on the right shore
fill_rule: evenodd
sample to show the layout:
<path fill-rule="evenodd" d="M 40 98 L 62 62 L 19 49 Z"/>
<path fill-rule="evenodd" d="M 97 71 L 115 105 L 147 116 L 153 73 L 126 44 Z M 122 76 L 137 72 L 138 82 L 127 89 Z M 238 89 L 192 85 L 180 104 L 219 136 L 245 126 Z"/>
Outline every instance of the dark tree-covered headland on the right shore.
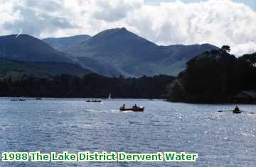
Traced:
<path fill-rule="evenodd" d="M 256 53 L 237 58 L 229 52 L 230 47 L 223 46 L 188 61 L 186 70 L 169 84 L 166 98 L 186 103 L 240 103 L 238 93 L 256 91 Z"/>

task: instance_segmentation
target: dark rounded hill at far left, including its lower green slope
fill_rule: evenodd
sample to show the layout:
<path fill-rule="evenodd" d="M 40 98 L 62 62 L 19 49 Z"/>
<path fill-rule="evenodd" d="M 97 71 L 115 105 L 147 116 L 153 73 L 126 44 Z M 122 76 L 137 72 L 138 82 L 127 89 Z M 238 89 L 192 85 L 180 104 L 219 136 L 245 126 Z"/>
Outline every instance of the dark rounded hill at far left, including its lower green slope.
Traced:
<path fill-rule="evenodd" d="M 92 73 L 73 57 L 30 35 L 0 36 L 0 74 L 37 76 Z"/>

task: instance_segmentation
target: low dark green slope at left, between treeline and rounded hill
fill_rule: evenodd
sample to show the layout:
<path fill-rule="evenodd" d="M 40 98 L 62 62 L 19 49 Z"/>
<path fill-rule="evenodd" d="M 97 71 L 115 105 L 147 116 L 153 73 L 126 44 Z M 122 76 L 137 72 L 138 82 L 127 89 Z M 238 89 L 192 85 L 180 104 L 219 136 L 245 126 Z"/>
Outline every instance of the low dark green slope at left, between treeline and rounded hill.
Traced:
<path fill-rule="evenodd" d="M 83 76 L 92 71 L 83 69 L 79 65 L 54 62 L 18 62 L 16 60 L 0 58 L 0 76 L 19 77 L 27 76 L 48 77 L 60 74 Z M 1 78 L 1 77 L 0 77 Z"/>

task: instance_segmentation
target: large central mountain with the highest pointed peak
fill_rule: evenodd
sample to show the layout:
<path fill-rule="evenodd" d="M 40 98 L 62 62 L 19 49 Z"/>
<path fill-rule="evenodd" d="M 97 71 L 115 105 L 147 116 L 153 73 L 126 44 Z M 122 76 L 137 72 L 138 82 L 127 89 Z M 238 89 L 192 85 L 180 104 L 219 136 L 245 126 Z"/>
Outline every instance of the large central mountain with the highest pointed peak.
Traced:
<path fill-rule="evenodd" d="M 102 31 L 92 38 L 64 51 L 82 63 L 89 58 L 102 64 L 111 64 L 120 73 L 130 76 L 177 75 L 186 62 L 208 50 L 213 45 L 159 46 L 129 32 L 126 28 Z"/>

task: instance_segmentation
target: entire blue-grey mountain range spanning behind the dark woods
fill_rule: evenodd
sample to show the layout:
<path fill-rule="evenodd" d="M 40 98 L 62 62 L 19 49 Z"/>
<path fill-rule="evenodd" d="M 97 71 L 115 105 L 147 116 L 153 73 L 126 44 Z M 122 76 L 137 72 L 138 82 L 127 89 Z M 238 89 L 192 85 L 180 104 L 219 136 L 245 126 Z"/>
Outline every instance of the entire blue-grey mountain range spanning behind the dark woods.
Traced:
<path fill-rule="evenodd" d="M 60 50 L 53 48 L 64 45 Z M 92 37 L 75 35 L 43 40 L 31 35 L 0 37 L 2 58 L 78 64 L 88 71 L 112 77 L 176 76 L 185 69 L 188 60 L 210 50 L 218 50 L 218 47 L 210 44 L 156 45 L 126 28 L 104 30 Z"/>

